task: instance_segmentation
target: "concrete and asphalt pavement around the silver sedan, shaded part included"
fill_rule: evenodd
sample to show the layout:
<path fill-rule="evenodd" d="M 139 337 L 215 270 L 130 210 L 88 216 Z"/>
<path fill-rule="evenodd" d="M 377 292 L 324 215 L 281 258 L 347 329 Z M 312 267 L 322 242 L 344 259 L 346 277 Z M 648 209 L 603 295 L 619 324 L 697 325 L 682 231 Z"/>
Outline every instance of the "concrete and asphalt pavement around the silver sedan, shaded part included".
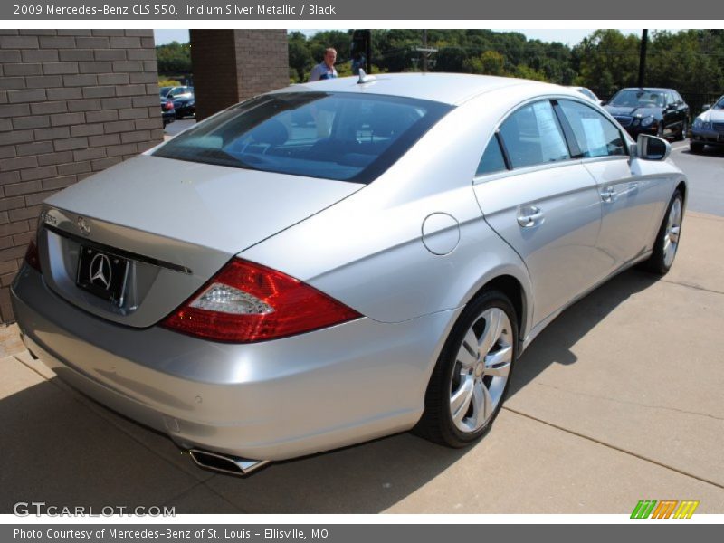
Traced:
<path fill-rule="evenodd" d="M 0 512 L 37 500 L 179 513 L 629 513 L 644 499 L 724 512 L 724 186 L 711 181 L 724 157 L 675 147 L 698 173 L 672 271 L 658 281 L 626 271 L 562 314 L 519 360 L 500 418 L 471 449 L 405 433 L 245 479 L 204 472 L 53 378 L 11 326 L 0 329 Z"/>

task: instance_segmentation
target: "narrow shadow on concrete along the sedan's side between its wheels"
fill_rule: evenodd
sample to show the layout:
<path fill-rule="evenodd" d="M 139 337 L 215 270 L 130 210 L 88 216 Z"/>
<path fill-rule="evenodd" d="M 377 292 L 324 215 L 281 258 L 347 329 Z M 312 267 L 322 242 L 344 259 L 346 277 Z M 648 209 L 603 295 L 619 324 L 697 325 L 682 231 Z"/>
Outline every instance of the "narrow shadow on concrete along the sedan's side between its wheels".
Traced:
<path fill-rule="evenodd" d="M 658 279 L 659 276 L 637 268 L 624 271 L 561 313 L 519 358 L 509 396 L 518 393 L 552 364 L 574 364 L 577 358 L 571 348 L 576 342 L 621 303 L 651 287 Z"/>

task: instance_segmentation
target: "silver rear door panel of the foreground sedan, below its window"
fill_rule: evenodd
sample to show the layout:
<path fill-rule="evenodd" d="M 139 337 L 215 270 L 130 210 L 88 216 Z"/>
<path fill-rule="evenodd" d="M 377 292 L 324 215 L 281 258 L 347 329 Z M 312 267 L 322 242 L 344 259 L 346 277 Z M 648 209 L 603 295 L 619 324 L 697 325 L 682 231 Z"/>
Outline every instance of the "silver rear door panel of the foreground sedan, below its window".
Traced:
<path fill-rule="evenodd" d="M 606 262 L 596 247 L 601 200 L 595 179 L 578 162 L 513 170 L 476 184 L 475 194 L 488 224 L 526 263 L 533 322 L 604 277 Z M 529 208 L 541 216 L 523 226 L 519 218 Z"/>

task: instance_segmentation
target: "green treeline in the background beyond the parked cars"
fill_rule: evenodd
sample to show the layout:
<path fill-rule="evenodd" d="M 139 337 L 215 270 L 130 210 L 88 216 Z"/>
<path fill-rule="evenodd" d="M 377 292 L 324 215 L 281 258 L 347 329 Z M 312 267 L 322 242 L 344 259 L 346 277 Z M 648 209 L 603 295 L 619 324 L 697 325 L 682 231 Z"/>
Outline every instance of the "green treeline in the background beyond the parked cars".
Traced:
<path fill-rule="evenodd" d="M 337 71 L 349 75 L 352 32 L 328 30 L 306 36 L 289 33 L 290 81 L 309 81 L 312 67 L 322 62 L 324 50 L 337 49 Z M 601 29 L 581 43 L 528 40 L 521 33 L 481 29 L 431 29 L 427 47 L 428 70 L 483 73 L 583 85 L 603 98 L 638 82 L 638 35 Z M 372 71 L 420 71 L 423 67 L 423 31 L 372 30 Z M 192 73 L 189 43 L 156 48 L 158 73 L 177 77 Z M 682 94 L 716 93 L 724 88 L 724 31 L 685 30 L 653 32 L 649 38 L 645 85 L 671 87 Z"/>

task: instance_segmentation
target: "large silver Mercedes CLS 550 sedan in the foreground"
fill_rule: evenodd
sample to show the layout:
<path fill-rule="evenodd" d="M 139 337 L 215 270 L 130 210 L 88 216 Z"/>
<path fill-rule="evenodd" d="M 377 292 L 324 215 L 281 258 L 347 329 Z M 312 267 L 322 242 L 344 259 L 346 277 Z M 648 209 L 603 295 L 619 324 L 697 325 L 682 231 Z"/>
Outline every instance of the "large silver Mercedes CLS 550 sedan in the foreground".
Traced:
<path fill-rule="evenodd" d="M 60 378 L 209 469 L 411 429 L 460 447 L 562 310 L 670 269 L 669 152 L 534 81 L 291 86 L 52 195 L 14 311 Z"/>

